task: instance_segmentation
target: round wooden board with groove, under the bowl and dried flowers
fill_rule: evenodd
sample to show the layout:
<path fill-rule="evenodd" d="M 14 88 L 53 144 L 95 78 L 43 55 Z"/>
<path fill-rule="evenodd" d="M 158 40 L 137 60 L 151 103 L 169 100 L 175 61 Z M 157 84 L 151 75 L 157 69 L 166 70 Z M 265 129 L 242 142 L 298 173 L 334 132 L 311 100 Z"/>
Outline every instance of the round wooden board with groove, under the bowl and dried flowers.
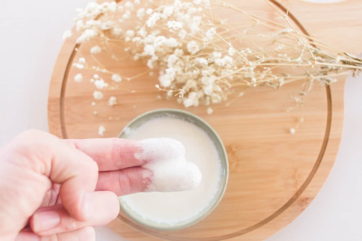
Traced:
<path fill-rule="evenodd" d="M 270 7 L 261 6 L 260 11 L 272 14 Z M 290 17 L 300 29 L 304 27 L 313 36 L 356 54 L 362 34 L 353 23 L 362 22 L 361 9 L 358 0 L 327 5 L 292 1 L 290 12 L 294 15 Z M 338 14 L 329 18 L 333 12 Z M 329 24 L 323 25 L 328 18 Z M 329 38 L 338 28 L 349 38 L 348 43 L 335 34 Z M 136 82 L 123 81 L 121 90 L 103 91 L 105 98 L 92 106 L 94 86 L 88 82 L 92 74 L 85 72 L 87 81 L 81 85 L 73 81 L 78 70 L 72 68 L 72 61 L 79 57 L 74 49 L 81 49 L 75 38 L 64 43 L 52 74 L 48 100 L 51 133 L 60 138 L 94 138 L 98 137 L 98 126 L 104 125 L 105 137 L 115 137 L 143 112 L 155 108 L 185 109 L 174 99 L 157 99 L 160 92 L 154 88 L 155 77 L 150 76 Z M 87 53 L 81 54 L 87 57 Z M 133 62 L 114 68 L 130 74 L 145 69 Z M 323 185 L 336 158 L 342 132 L 344 81 L 331 87 L 315 86 L 303 108 L 287 113 L 285 109 L 294 106 L 290 94 L 299 88 L 300 83 L 294 83 L 277 91 L 266 87 L 250 89 L 229 107 L 215 106 L 212 115 L 206 114 L 206 107 L 186 109 L 215 128 L 228 152 L 230 177 L 226 194 L 206 219 L 186 230 L 158 232 L 140 227 L 120 213 L 109 227 L 128 240 L 195 241 L 259 241 L 285 227 Z M 117 96 L 117 106 L 107 106 L 111 95 Z M 93 115 L 93 111 L 98 115 Z M 304 123 L 294 135 L 289 134 L 289 128 L 300 117 L 304 117 Z"/>

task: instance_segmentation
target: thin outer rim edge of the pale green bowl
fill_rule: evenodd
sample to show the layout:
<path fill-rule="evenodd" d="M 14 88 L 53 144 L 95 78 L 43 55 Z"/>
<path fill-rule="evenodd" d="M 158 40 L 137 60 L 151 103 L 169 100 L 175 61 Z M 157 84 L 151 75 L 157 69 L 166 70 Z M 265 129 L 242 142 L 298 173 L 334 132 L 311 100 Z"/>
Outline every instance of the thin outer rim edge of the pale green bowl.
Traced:
<path fill-rule="evenodd" d="M 172 227 L 160 227 L 160 226 L 157 226 L 157 225 L 150 224 L 146 220 L 145 221 L 139 220 L 139 219 L 135 218 L 132 215 L 132 213 L 133 213 L 132 211 L 130 212 L 129 209 L 125 208 L 124 204 L 122 204 L 121 198 L 118 198 L 119 199 L 119 207 L 132 221 L 134 221 L 134 222 L 136 222 L 136 223 L 138 223 L 140 225 L 143 225 L 144 227 L 147 227 L 147 228 L 150 228 L 150 229 L 156 229 L 156 230 L 159 230 L 159 231 L 173 231 L 173 230 L 184 229 L 184 228 L 190 227 L 191 225 L 194 225 L 194 224 L 198 223 L 199 221 L 201 221 L 202 219 L 206 218 L 208 215 L 211 214 L 212 211 L 214 211 L 214 209 L 221 202 L 222 198 L 224 197 L 226 187 L 227 187 L 227 184 L 228 184 L 228 180 L 229 180 L 228 156 L 227 156 L 227 152 L 226 152 L 224 143 L 223 143 L 222 139 L 220 138 L 219 134 L 216 132 L 216 130 L 214 128 L 212 128 L 212 126 L 209 123 L 207 123 L 205 120 L 203 120 L 201 117 L 199 117 L 199 116 L 197 116 L 197 115 L 195 115 L 195 114 L 193 114 L 191 112 L 184 111 L 184 110 L 181 110 L 181 109 L 159 108 L 159 109 L 153 109 L 151 111 L 144 112 L 144 113 L 136 116 L 134 119 L 132 119 L 122 129 L 122 131 L 117 135 L 117 138 L 121 138 L 121 135 L 125 132 L 125 130 L 127 128 L 130 128 L 130 125 L 132 125 L 133 123 L 135 123 L 139 119 L 142 119 L 144 116 L 148 116 L 148 115 L 151 115 L 151 114 L 154 115 L 154 114 L 157 114 L 157 113 L 160 113 L 160 114 L 163 114 L 163 113 L 170 113 L 170 114 L 177 113 L 177 114 L 185 115 L 185 116 L 191 117 L 191 119 L 196 119 L 196 120 L 200 121 L 203 125 L 205 125 L 206 129 L 209 129 L 211 131 L 212 135 L 214 135 L 216 137 L 217 142 L 221 146 L 221 150 L 222 150 L 221 155 L 224 157 L 224 162 L 225 162 L 225 168 L 224 168 L 225 169 L 225 174 L 224 174 L 224 176 L 225 176 L 225 184 L 221 188 L 222 189 L 221 193 L 218 196 L 216 196 L 215 198 L 213 198 L 214 202 L 212 203 L 212 205 L 209 208 L 206 208 L 205 211 L 201 212 L 200 215 L 197 215 L 194 219 L 191 219 L 190 222 L 182 224 L 182 225 L 176 225 L 176 226 L 172 226 Z M 186 120 L 186 121 L 188 121 L 188 120 Z M 198 127 L 201 128 L 200 126 L 198 126 Z M 220 155 L 219 151 L 218 151 L 218 154 Z M 220 162 L 222 162 L 222 160 L 220 160 Z M 122 197 L 122 196 L 120 196 L 120 197 Z"/>

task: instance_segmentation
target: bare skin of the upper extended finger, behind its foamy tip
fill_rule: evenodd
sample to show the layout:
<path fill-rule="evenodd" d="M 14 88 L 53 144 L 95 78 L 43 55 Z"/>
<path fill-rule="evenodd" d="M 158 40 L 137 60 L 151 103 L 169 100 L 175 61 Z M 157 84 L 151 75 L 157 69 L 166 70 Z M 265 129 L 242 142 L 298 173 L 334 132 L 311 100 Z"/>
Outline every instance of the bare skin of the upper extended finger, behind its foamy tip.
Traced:
<path fill-rule="evenodd" d="M 139 152 L 137 141 L 121 138 L 67 139 L 66 143 L 74 145 L 78 150 L 97 162 L 100 171 L 113 171 L 145 164 L 145 160 L 135 159 Z"/>

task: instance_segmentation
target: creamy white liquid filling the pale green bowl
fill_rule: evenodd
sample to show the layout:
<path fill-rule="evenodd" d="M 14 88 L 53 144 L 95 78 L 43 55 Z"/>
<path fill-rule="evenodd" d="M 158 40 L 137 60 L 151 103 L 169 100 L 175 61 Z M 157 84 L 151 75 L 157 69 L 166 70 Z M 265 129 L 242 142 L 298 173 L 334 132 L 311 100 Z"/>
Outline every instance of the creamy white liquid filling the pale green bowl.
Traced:
<path fill-rule="evenodd" d="M 208 207 L 218 189 L 221 163 L 209 136 L 196 125 L 174 117 L 152 119 L 127 133 L 129 139 L 173 138 L 185 146 L 186 160 L 202 173 L 199 186 L 190 191 L 136 193 L 121 197 L 129 208 L 144 219 L 176 224 L 192 219 Z"/>

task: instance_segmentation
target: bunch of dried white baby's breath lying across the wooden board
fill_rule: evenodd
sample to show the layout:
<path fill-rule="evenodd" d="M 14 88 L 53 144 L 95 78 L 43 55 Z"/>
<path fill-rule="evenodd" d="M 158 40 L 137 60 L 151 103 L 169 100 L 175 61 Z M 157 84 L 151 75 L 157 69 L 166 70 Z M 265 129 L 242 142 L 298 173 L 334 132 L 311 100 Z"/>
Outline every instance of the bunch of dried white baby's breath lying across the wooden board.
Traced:
<path fill-rule="evenodd" d="M 219 19 L 214 9 L 220 8 L 251 21 Z M 90 53 L 103 50 L 117 61 L 111 46 L 123 42 L 127 55 L 135 61 L 143 61 L 150 71 L 121 77 L 107 66 L 94 65 L 92 69 L 110 74 L 115 82 L 122 78 L 129 81 L 147 73 L 153 76 L 157 71 L 155 87 L 167 93 L 165 99 L 176 99 L 185 107 L 218 104 L 232 94 L 242 96 L 240 90 L 249 87 L 278 89 L 290 82 L 304 81 L 302 90 L 292 95 L 296 105 L 302 106 L 304 96 L 315 83 L 329 85 L 350 69 L 354 70 L 353 74 L 362 69 L 361 59 L 320 41 L 313 42 L 299 33 L 290 21 L 285 21 L 286 26 L 274 24 L 263 16 L 254 16 L 216 0 L 161 0 L 157 5 L 152 1 L 141 4 L 139 0 L 120 1 L 118 5 L 115 2 L 90 3 L 78 12 L 75 19 L 79 33 L 77 43 L 98 41 L 102 48 L 93 43 Z M 99 14 L 102 17 L 96 18 Z M 123 31 L 122 27 L 127 29 Z M 79 60 L 74 66 L 89 69 L 85 60 Z M 99 76 L 93 76 L 93 82 L 97 89 L 106 87 Z"/>

